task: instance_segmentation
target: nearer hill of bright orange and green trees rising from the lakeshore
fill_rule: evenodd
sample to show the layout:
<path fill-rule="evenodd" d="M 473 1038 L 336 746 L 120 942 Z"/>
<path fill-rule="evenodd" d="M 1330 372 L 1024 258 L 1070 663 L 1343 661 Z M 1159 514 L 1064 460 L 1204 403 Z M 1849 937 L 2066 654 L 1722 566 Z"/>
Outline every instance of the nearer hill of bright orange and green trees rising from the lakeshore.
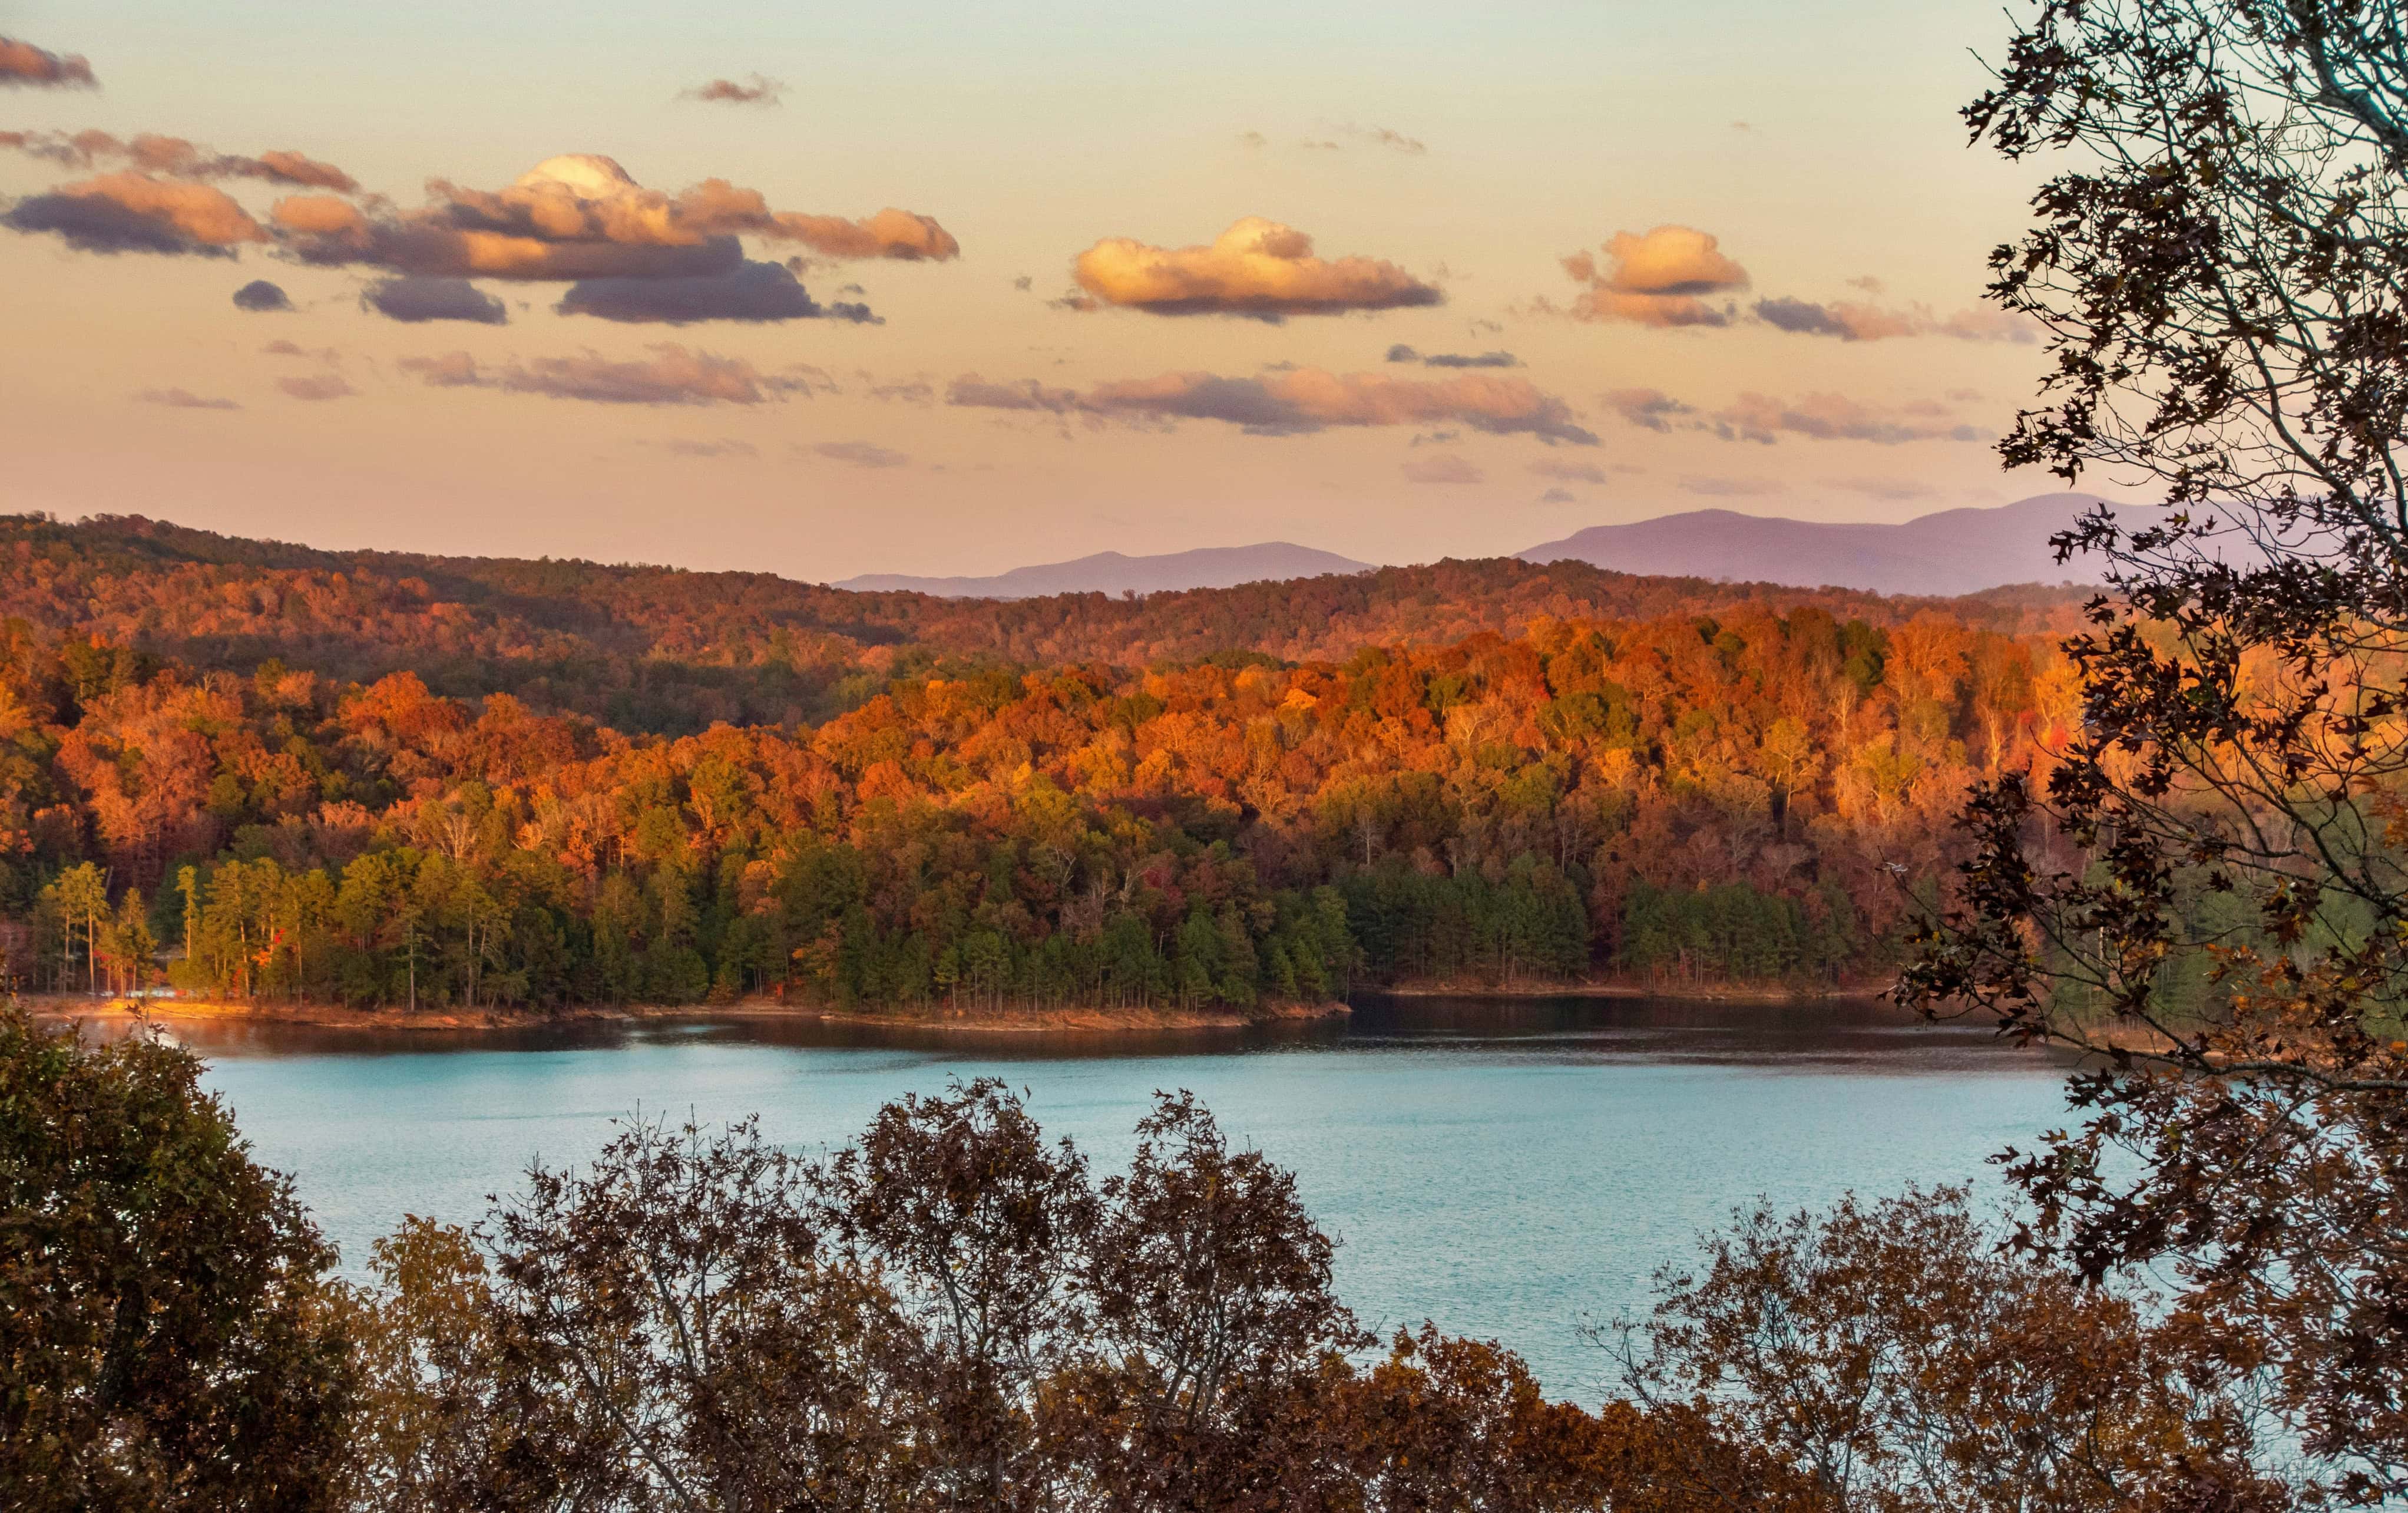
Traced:
<path fill-rule="evenodd" d="M 0 624 L 17 983 L 905 1012 L 1365 981 L 1878 973 L 1979 776 L 2076 720 L 2049 636 L 1818 607 L 1344 660 L 893 679 L 811 730 L 207 672 Z"/>

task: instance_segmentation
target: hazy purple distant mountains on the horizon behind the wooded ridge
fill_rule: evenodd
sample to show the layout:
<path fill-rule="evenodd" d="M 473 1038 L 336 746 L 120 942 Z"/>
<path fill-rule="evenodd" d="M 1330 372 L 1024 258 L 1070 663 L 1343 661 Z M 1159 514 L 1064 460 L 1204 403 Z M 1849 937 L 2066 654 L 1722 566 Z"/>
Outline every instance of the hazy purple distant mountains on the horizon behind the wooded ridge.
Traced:
<path fill-rule="evenodd" d="M 1960 595 L 2008 583 L 2093 583 L 2088 561 L 2059 564 L 2049 535 L 2064 530 L 2093 494 L 2040 494 L 1999 508 L 1958 508 L 1900 525 L 1787 520 L 1739 511 L 1686 511 L 1630 525 L 1589 525 L 1517 552 L 1522 561 L 1587 561 L 1616 573 L 1724 578 L 1794 588 Z M 937 597 L 1028 600 L 1055 593 L 1175 593 L 1368 573 L 1373 564 L 1296 542 L 1204 547 L 1163 557 L 1098 552 L 1076 561 L 1011 569 L 987 578 L 864 573 L 833 588 L 855 593 L 927 593 Z"/>

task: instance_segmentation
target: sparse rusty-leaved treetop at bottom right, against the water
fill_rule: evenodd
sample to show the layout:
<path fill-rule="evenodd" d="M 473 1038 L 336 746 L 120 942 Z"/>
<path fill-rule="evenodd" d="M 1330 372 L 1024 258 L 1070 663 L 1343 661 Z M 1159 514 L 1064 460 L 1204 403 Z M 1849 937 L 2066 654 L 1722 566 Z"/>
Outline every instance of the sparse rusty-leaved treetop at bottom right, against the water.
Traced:
<path fill-rule="evenodd" d="M 1633 1397 L 1755 1446 L 1835 1508 L 2290 1506 L 2259 1470 L 2259 1349 L 2003 1250 L 1960 1190 L 1741 1214 L 1647 1327 Z M 1729 1482 L 1727 1472 L 1702 1482 Z M 1729 1491 L 1739 1494 L 1736 1486 Z"/>

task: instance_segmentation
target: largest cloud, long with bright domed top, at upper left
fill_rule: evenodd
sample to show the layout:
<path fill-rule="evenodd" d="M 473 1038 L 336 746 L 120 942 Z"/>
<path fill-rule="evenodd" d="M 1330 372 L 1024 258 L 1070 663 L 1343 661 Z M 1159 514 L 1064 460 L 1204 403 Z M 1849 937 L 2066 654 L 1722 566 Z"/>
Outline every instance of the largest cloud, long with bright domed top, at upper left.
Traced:
<path fill-rule="evenodd" d="M 681 195 L 648 190 L 607 157 L 537 164 L 503 190 L 429 183 L 407 214 L 330 195 L 279 200 L 275 224 L 306 263 L 498 279 L 701 279 L 744 265 L 739 236 L 799 241 L 831 258 L 954 258 L 934 219 L 881 210 L 864 222 L 775 212 L 759 190 L 708 178 Z"/>

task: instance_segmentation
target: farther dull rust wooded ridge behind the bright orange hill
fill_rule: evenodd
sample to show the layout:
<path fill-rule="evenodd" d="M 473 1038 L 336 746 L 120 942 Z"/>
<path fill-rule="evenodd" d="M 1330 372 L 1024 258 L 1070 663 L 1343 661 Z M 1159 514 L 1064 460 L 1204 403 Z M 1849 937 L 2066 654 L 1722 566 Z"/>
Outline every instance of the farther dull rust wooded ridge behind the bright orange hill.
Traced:
<path fill-rule="evenodd" d="M 1941 610 L 1996 634 L 2071 624 L 2076 593 L 1963 600 L 1637 578 L 1580 561 L 1440 561 L 1149 597 L 949 600 L 773 573 L 566 559 L 325 552 L 142 516 L 0 518 L 0 614 L 195 670 L 282 660 L 335 679 L 417 672 L 436 694 L 513 694 L 628 732 L 819 723 L 896 677 L 970 667 L 1149 667 L 1230 655 L 1344 660 L 1541 619 L 1816 607 L 1873 626 Z"/>

